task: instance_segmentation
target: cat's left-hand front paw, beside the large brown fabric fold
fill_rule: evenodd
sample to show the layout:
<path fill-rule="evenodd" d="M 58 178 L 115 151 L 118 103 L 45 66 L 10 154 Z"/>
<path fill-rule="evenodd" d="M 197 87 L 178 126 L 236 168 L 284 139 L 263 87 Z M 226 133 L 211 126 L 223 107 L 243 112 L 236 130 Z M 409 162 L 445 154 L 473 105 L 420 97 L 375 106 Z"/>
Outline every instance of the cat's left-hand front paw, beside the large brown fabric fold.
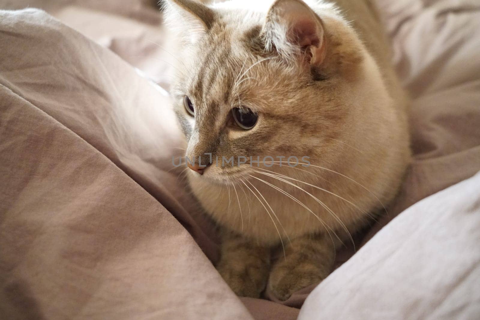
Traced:
<path fill-rule="evenodd" d="M 220 262 L 216 269 L 237 296 L 259 298 L 266 287 L 268 270 L 264 268 Z"/>

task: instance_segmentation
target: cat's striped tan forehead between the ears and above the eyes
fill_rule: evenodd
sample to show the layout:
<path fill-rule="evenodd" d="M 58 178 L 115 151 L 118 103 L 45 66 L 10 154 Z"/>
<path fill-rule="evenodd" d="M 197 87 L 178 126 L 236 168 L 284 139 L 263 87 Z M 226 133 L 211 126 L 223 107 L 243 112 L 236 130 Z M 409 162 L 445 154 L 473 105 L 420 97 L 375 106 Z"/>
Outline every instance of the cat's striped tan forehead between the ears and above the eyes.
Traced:
<path fill-rule="evenodd" d="M 254 112 L 282 111 L 278 99 L 296 91 L 299 71 L 265 49 L 261 31 L 260 22 L 220 21 L 197 43 L 183 83 L 196 106 L 197 120 L 213 113 L 220 123 L 226 112 L 240 106 Z"/>

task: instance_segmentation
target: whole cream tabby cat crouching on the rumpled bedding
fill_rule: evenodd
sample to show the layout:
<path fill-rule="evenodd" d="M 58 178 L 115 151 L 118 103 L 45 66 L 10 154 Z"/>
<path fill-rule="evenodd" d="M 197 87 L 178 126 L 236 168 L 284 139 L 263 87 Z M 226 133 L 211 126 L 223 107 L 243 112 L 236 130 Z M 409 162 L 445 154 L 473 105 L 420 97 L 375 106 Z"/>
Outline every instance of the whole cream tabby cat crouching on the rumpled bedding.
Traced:
<path fill-rule="evenodd" d="M 216 268 L 239 296 L 286 300 L 331 273 L 410 160 L 408 96 L 379 16 L 370 0 L 164 7 L 189 185 L 221 230 Z"/>

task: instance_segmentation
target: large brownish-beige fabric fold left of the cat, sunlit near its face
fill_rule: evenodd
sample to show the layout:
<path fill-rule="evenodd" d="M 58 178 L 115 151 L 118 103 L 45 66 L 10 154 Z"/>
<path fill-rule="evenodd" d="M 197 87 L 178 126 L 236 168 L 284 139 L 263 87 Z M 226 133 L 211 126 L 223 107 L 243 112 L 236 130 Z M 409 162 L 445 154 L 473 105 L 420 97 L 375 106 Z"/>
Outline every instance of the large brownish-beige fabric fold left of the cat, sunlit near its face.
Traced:
<path fill-rule="evenodd" d="M 168 98 L 44 12 L 0 47 L 1 318 L 252 319 L 182 226 Z"/>

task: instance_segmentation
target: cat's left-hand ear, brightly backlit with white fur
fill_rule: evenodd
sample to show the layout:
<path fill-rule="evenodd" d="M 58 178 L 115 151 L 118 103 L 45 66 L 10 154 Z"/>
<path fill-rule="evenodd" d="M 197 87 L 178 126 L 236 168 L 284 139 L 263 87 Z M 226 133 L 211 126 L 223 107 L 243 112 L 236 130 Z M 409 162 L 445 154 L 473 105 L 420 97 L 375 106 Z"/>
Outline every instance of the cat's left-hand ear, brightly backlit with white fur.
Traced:
<path fill-rule="evenodd" d="M 163 0 L 164 17 L 180 40 L 192 44 L 212 27 L 215 12 L 195 0 Z"/>

